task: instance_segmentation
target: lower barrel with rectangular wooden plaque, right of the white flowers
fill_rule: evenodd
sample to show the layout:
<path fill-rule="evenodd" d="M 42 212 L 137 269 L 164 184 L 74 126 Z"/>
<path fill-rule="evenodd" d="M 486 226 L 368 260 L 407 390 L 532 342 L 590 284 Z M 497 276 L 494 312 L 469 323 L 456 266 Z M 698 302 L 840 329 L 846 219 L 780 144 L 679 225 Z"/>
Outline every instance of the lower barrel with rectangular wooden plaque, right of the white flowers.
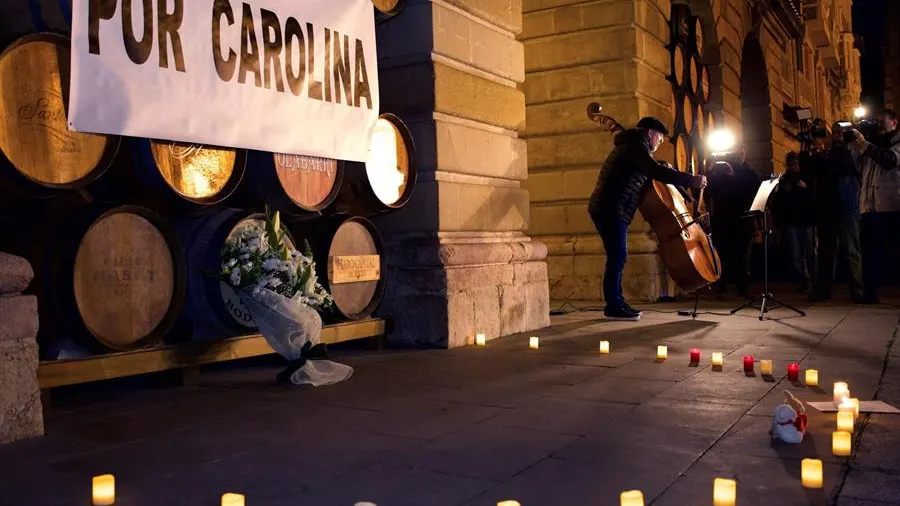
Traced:
<path fill-rule="evenodd" d="M 334 296 L 323 318 L 368 318 L 384 296 L 384 245 L 375 224 L 337 215 L 296 225 L 292 232 L 311 245 L 319 283 Z"/>

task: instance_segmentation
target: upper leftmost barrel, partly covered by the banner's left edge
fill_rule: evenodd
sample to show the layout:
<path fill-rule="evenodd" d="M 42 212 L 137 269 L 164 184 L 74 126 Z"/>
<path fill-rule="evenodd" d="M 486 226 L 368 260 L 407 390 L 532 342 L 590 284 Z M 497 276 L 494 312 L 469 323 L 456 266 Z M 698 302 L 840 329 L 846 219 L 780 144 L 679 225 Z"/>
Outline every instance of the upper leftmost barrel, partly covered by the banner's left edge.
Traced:
<path fill-rule="evenodd" d="M 0 54 L 0 186 L 28 197 L 83 188 L 112 164 L 120 138 L 68 129 L 69 41 L 26 35 Z"/>

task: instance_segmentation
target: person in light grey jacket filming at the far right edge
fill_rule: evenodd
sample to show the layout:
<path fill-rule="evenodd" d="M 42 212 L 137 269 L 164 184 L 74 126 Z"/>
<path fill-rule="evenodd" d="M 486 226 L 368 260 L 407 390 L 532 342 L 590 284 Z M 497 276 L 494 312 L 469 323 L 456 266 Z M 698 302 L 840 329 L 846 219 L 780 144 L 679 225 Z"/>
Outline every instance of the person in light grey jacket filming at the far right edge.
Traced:
<path fill-rule="evenodd" d="M 880 278 L 885 275 L 886 240 L 900 227 L 900 131 L 897 114 L 886 110 L 879 125 L 883 133 L 871 142 L 859 130 L 854 148 L 862 172 L 860 239 L 862 240 L 864 304 L 878 303 Z"/>

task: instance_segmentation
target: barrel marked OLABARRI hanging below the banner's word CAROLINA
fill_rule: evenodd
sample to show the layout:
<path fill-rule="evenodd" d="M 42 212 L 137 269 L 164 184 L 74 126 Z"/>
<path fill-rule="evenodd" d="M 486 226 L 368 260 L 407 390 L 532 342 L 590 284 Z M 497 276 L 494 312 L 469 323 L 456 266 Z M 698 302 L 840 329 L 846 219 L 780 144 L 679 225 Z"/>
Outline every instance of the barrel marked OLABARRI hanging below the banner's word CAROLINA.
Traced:
<path fill-rule="evenodd" d="M 330 158 L 251 151 L 244 179 L 247 207 L 265 203 L 284 218 L 321 215 L 334 202 L 344 179 L 345 162 Z M 249 200 L 249 201 L 248 201 Z"/>

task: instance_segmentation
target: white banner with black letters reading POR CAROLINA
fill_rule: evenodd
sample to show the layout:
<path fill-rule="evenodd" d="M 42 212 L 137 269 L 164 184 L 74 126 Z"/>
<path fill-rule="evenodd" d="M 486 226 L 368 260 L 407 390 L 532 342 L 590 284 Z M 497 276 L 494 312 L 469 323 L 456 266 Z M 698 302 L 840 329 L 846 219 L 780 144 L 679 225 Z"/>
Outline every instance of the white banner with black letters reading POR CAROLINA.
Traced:
<path fill-rule="evenodd" d="M 365 161 L 376 62 L 371 0 L 74 0 L 69 128 Z"/>

